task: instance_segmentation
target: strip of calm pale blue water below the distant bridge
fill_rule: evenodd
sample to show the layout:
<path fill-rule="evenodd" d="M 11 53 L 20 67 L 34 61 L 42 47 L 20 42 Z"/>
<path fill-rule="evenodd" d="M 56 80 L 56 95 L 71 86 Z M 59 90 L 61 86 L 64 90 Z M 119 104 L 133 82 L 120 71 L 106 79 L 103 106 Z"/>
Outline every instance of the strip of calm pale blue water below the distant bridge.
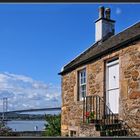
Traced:
<path fill-rule="evenodd" d="M 8 121 L 7 126 L 13 131 L 42 131 L 46 121 Z M 36 128 L 37 126 L 37 128 Z"/>

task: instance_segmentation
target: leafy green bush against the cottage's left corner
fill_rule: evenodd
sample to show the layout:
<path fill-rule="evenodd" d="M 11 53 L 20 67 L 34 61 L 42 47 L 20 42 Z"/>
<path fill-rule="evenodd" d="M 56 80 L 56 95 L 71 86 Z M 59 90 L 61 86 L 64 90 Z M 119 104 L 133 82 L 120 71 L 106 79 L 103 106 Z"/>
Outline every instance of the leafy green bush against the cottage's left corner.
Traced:
<path fill-rule="evenodd" d="M 44 136 L 61 136 L 61 115 L 46 116 Z"/>

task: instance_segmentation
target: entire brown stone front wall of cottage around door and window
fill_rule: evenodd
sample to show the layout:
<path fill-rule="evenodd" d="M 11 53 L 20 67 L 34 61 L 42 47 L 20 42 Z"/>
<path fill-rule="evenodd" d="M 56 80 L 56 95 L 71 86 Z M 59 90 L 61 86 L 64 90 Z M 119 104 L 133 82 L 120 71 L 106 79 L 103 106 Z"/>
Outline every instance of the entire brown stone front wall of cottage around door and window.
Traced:
<path fill-rule="evenodd" d="M 87 131 L 87 127 L 85 129 L 80 127 L 83 106 L 82 101 L 77 101 L 77 72 L 86 67 L 87 95 L 98 94 L 103 97 L 105 93 L 104 64 L 114 57 L 119 58 L 120 65 L 119 116 L 140 135 L 140 42 L 134 42 L 126 48 L 62 76 L 62 136 L 68 135 L 70 130 L 77 131 L 79 135 L 81 130 Z"/>

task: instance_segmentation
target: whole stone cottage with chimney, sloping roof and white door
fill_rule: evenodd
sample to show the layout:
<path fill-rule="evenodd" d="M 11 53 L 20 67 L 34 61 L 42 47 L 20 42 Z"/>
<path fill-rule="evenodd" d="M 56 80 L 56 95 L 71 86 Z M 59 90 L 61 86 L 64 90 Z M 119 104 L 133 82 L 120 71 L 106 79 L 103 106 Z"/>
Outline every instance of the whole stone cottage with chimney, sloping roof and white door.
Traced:
<path fill-rule="evenodd" d="M 140 22 L 115 34 L 99 8 L 95 43 L 65 65 L 62 136 L 140 136 Z"/>

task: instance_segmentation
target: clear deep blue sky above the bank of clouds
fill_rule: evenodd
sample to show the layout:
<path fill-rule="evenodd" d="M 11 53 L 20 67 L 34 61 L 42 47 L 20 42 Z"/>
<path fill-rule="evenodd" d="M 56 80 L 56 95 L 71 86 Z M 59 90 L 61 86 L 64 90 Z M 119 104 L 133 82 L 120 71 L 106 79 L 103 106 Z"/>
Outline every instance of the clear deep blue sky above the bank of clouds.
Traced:
<path fill-rule="evenodd" d="M 94 43 L 99 6 L 116 33 L 140 19 L 139 4 L 0 4 L 0 73 L 60 87 L 61 67 Z"/>

